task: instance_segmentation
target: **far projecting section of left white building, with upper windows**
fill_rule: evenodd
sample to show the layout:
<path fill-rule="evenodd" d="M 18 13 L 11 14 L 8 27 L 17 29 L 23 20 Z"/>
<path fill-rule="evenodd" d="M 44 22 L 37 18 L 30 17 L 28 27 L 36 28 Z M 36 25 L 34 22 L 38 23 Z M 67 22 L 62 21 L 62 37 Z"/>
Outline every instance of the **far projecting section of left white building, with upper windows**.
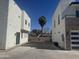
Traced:
<path fill-rule="evenodd" d="M 30 32 L 31 22 L 25 11 L 22 11 L 21 20 L 21 43 L 28 42 L 28 33 Z M 27 39 L 27 40 L 25 40 Z"/>

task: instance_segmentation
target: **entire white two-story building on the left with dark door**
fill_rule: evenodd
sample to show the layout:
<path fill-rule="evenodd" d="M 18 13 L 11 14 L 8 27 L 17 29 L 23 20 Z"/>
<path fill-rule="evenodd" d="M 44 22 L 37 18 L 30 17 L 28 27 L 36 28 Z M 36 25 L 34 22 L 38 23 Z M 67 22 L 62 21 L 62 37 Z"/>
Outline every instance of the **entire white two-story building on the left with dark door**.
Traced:
<path fill-rule="evenodd" d="M 0 0 L 0 49 L 28 42 L 30 18 L 14 0 Z"/>

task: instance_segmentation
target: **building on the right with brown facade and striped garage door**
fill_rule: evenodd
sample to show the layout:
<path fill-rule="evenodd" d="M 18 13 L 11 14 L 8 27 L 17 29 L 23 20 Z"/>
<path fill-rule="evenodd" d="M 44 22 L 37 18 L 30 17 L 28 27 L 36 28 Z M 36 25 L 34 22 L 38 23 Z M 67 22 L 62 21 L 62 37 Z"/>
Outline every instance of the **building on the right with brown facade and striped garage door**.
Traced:
<path fill-rule="evenodd" d="M 79 0 L 60 0 L 52 22 L 52 41 L 64 49 L 78 49 Z"/>

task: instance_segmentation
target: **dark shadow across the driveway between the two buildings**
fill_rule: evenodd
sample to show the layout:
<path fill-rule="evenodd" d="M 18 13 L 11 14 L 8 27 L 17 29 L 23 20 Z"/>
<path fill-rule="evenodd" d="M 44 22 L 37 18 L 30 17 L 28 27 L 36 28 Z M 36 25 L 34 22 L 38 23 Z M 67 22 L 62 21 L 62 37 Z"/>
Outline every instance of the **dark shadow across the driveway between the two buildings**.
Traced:
<path fill-rule="evenodd" d="M 50 42 L 27 43 L 22 46 L 34 47 L 36 49 L 62 50 L 61 48 L 56 47 L 53 43 L 50 43 Z"/>

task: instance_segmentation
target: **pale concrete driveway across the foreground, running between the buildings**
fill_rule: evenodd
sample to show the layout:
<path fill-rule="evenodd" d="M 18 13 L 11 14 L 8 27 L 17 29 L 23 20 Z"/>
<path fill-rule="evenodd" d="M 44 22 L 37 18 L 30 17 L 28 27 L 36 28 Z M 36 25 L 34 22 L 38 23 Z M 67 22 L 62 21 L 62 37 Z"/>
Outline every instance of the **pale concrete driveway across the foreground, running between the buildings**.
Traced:
<path fill-rule="evenodd" d="M 64 51 L 59 48 L 44 47 L 43 43 L 31 43 L 17 48 L 0 51 L 0 59 L 79 59 L 79 51 Z M 39 46 L 39 47 L 37 47 Z"/>

